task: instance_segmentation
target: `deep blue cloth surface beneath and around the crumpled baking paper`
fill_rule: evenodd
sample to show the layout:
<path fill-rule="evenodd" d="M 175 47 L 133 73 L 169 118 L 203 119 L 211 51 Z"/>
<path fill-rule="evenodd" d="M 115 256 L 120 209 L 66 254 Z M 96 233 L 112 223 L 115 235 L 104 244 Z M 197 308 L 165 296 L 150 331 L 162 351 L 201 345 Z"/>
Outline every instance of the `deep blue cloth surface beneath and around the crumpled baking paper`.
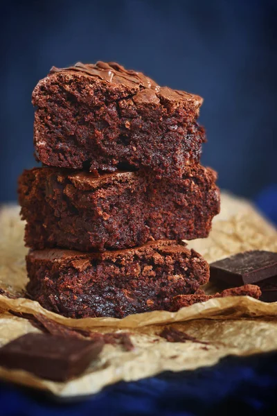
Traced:
<path fill-rule="evenodd" d="M 256 206 L 277 223 L 277 189 L 257 196 Z M 1 416 L 87 415 L 276 415 L 277 353 L 227 357 L 194 372 L 164 373 L 118 383 L 98 395 L 69 403 L 0 383 Z"/>

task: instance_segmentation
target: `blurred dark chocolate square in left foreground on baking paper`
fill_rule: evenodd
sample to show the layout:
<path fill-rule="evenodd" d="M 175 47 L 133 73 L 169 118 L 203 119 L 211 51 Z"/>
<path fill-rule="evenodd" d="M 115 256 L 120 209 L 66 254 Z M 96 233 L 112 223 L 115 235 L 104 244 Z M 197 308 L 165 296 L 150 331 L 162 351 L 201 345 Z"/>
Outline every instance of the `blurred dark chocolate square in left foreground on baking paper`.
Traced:
<path fill-rule="evenodd" d="M 0 365 L 26 370 L 53 381 L 80 375 L 98 356 L 103 343 L 64 338 L 45 333 L 27 333 L 0 349 Z"/>

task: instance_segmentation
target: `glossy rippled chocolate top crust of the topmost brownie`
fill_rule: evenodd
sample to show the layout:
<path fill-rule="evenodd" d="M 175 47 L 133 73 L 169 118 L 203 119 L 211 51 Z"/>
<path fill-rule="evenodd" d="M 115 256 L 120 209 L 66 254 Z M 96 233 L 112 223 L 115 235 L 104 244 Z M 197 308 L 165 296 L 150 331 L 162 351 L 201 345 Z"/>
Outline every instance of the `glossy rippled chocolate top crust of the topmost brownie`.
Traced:
<path fill-rule="evenodd" d="M 82 62 L 77 62 L 75 65 L 73 65 L 73 67 L 52 67 L 50 70 L 50 75 L 64 71 L 86 73 L 89 76 L 99 78 L 100 80 L 104 80 L 107 83 L 132 83 L 145 89 L 152 89 L 152 91 L 154 91 L 158 96 L 163 96 L 169 100 L 178 101 L 181 98 L 186 100 L 193 99 L 198 105 L 201 105 L 203 102 L 203 99 L 197 95 L 170 89 L 168 87 L 160 87 L 157 83 L 154 82 L 154 80 L 148 76 L 145 76 L 142 72 L 125 69 L 122 65 L 117 64 L 116 62 L 98 61 L 96 64 L 82 64 Z"/>

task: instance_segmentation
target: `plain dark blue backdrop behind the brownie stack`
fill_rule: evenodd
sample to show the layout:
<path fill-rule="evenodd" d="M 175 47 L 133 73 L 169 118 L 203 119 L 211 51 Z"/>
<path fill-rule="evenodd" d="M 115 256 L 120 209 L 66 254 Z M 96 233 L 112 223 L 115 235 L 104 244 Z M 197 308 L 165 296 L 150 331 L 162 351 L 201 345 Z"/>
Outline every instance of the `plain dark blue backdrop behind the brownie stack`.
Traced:
<path fill-rule="evenodd" d="M 276 183 L 276 1 L 1 2 L 1 200 L 35 164 L 30 95 L 50 67 L 116 60 L 204 96 L 202 162 L 255 197 Z"/>

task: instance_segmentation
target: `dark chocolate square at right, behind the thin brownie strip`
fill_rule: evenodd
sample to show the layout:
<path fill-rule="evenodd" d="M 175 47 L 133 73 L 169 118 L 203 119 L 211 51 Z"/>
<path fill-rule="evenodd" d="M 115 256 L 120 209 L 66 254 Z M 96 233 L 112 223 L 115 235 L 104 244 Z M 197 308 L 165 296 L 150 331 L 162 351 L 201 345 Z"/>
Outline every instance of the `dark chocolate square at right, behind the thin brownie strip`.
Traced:
<path fill-rule="evenodd" d="M 215 261 L 210 265 L 211 281 L 229 286 L 256 283 L 277 275 L 277 253 L 253 250 Z"/>

